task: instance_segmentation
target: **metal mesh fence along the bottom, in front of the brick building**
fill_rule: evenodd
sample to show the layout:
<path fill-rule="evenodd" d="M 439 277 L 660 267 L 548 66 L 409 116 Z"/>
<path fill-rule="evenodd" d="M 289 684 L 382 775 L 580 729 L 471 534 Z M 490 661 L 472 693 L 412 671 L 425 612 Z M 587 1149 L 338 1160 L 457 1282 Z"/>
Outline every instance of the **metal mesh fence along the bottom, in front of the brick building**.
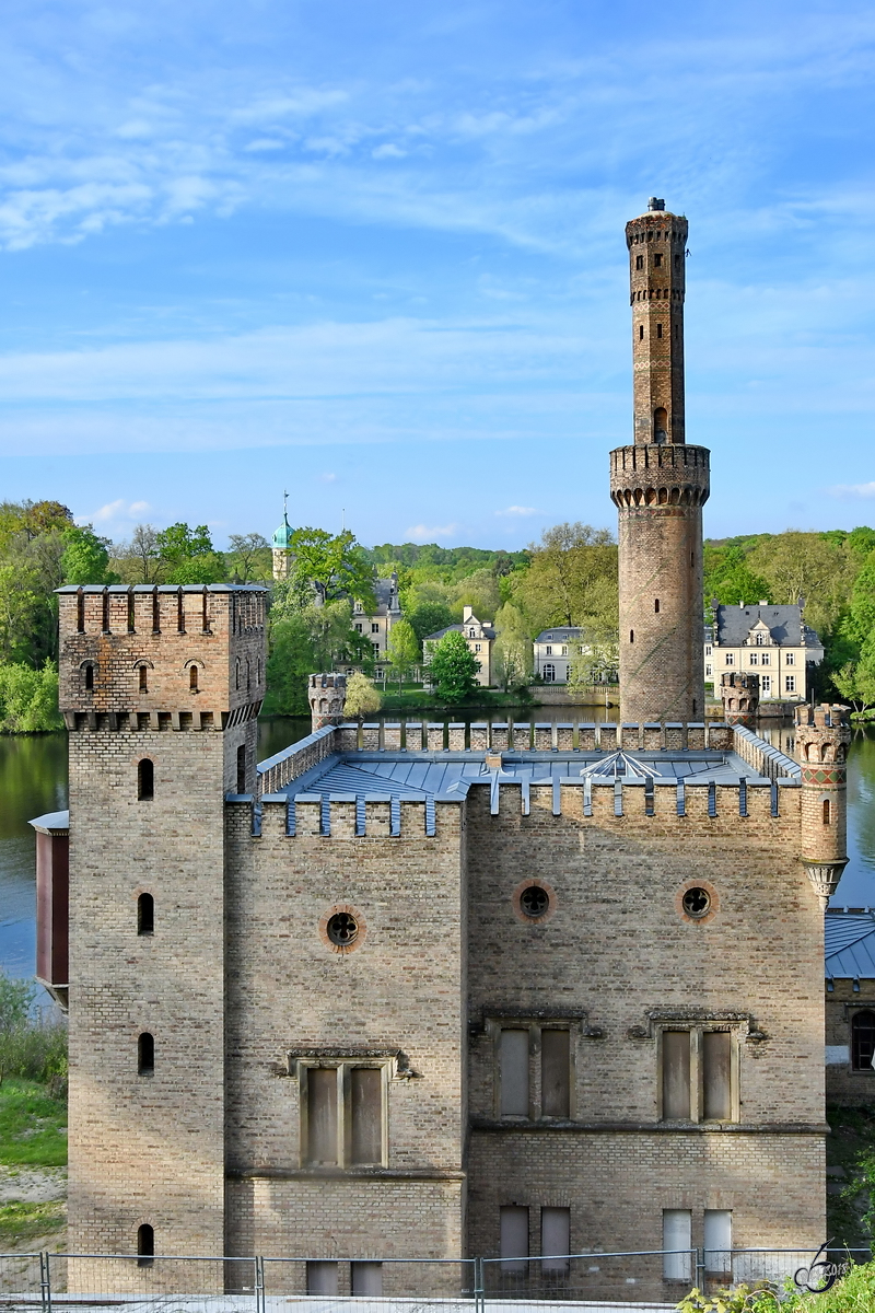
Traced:
<path fill-rule="evenodd" d="M 522 1313 L 537 1304 L 655 1313 L 693 1285 L 817 1291 L 870 1250 L 653 1250 L 537 1258 L 0 1255 L 0 1310 L 71 1313 Z M 474 1305 L 474 1309 L 471 1309 Z"/>

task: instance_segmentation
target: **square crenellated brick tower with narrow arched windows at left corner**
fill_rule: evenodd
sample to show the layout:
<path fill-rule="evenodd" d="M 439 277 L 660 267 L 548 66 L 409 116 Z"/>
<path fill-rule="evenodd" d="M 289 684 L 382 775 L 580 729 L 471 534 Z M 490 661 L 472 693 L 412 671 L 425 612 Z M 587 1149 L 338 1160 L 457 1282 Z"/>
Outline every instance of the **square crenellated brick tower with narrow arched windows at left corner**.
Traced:
<path fill-rule="evenodd" d="M 59 591 L 79 1253 L 224 1251 L 226 797 L 254 793 L 265 591 Z"/>

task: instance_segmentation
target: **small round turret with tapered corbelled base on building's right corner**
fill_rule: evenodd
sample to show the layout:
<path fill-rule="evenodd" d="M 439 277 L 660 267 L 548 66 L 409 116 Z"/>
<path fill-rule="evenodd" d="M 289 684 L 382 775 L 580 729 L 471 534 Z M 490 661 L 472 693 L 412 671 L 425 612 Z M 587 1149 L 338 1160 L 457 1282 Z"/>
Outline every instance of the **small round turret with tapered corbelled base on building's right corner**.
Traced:
<path fill-rule="evenodd" d="M 847 865 L 847 708 L 796 708 L 796 759 L 802 765 L 800 860 L 825 909 Z"/>

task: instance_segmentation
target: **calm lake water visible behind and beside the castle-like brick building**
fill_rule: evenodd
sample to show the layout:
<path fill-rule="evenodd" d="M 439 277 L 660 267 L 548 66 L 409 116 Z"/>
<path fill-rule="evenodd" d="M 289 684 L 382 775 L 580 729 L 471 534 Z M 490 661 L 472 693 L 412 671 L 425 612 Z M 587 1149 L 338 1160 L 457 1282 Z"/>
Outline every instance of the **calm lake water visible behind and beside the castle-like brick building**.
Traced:
<path fill-rule="evenodd" d="M 576 713 L 575 716 L 569 714 Z M 513 709 L 464 712 L 459 721 L 504 721 Z M 611 708 L 546 708 L 516 712 L 518 720 L 617 720 Z M 375 720 L 397 720 L 386 716 Z M 436 712 L 405 720 L 438 718 Z M 310 733 L 304 717 L 265 721 L 258 727 L 258 756 L 264 760 Z M 767 735 L 778 746 L 779 731 Z M 0 968 L 10 976 L 33 976 L 35 964 L 34 832 L 28 825 L 45 811 L 67 806 L 67 735 L 33 738 L 0 735 Z M 850 861 L 833 902 L 875 906 L 875 727 L 855 730 L 847 765 L 847 853 Z"/>

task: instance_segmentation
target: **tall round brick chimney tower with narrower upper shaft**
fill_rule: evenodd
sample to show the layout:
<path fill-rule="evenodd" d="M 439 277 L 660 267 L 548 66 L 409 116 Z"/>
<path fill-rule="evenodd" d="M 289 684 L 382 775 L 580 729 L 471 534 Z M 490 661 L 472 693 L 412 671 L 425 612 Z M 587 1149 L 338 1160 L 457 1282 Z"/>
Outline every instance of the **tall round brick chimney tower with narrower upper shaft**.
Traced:
<path fill-rule="evenodd" d="M 611 452 L 619 511 L 619 692 L 624 721 L 704 720 L 702 507 L 710 452 L 683 424 L 687 222 L 651 197 L 626 225 L 632 446 Z"/>

